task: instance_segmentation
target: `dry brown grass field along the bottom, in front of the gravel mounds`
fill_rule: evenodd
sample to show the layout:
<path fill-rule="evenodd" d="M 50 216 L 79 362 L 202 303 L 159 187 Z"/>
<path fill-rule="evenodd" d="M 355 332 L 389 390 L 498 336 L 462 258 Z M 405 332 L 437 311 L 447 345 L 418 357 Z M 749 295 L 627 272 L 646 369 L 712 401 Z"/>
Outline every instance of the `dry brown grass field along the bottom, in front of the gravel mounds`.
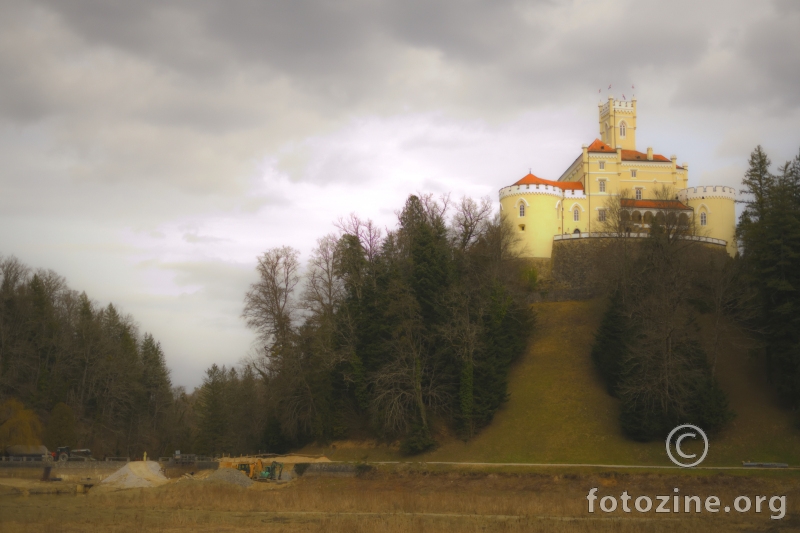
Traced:
<path fill-rule="evenodd" d="M 179 481 L 152 489 L 78 496 L 0 495 L 0 531 L 319 531 L 319 532 L 671 532 L 800 531 L 800 474 L 732 476 L 573 470 L 512 474 L 467 470 L 378 471 L 362 477 L 303 477 L 249 489 Z M 586 495 L 785 495 L 787 514 L 590 514 Z"/>

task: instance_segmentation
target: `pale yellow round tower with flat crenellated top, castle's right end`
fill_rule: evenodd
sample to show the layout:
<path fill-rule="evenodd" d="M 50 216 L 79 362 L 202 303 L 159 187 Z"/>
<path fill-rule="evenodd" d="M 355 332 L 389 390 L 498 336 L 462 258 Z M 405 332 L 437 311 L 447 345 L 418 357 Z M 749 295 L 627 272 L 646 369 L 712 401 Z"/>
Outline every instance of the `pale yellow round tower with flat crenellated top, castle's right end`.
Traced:
<path fill-rule="evenodd" d="M 698 235 L 722 239 L 728 255 L 736 255 L 736 189 L 721 185 L 688 187 L 678 191 L 678 200 L 694 210 Z"/>

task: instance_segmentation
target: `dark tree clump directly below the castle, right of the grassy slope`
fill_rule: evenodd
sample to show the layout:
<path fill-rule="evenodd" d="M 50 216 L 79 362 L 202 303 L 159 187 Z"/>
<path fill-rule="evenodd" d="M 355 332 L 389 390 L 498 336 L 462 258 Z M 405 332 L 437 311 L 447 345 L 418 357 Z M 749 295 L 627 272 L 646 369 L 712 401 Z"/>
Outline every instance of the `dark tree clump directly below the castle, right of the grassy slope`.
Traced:
<path fill-rule="evenodd" d="M 624 198 L 607 205 L 605 246 L 598 253 L 609 276 L 609 306 L 595 336 L 592 359 L 610 394 L 621 400 L 623 431 L 636 440 L 660 439 L 678 423 L 706 431 L 729 419 L 727 399 L 699 342 L 698 301 L 709 292 L 724 305 L 728 287 L 709 291 L 707 280 L 730 262 L 693 234 L 689 220 L 671 207 L 674 195 L 648 217 L 649 238 L 633 241 L 617 231 L 626 221 Z M 616 205 L 616 203 L 619 205 Z M 712 272 L 708 272 L 711 268 Z"/>

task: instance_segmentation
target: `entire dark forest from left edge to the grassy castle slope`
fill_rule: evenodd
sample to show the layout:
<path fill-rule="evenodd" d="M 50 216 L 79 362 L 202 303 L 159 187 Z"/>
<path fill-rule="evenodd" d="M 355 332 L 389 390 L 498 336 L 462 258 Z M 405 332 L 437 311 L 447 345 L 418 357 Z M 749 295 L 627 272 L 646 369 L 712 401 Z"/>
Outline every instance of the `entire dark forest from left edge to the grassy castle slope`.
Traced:
<path fill-rule="evenodd" d="M 242 313 L 258 348 L 235 368 L 212 365 L 191 393 L 172 386 L 159 343 L 132 317 L 4 259 L 0 424 L 35 418 L 48 447 L 99 456 L 345 437 L 415 454 L 437 427 L 469 439 L 506 400 L 534 327 L 535 270 L 515 255 L 514 232 L 488 199 L 431 195 L 410 196 L 385 234 L 356 215 L 336 226 L 305 268 L 291 247 L 258 258 Z"/>

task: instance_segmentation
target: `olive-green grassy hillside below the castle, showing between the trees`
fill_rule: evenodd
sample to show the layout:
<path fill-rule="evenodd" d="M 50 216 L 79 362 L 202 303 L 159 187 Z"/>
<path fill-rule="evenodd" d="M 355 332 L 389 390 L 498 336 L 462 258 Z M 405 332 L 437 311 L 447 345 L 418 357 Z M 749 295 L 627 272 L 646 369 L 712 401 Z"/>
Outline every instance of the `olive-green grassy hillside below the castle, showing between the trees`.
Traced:
<path fill-rule="evenodd" d="M 538 328 L 527 354 L 512 370 L 510 398 L 490 427 L 464 443 L 443 436 L 424 461 L 600 463 L 669 465 L 663 441 L 626 439 L 617 400 L 605 391 L 589 353 L 603 302 L 536 305 Z M 713 436 L 704 465 L 735 466 L 743 460 L 800 464 L 800 431 L 778 408 L 748 339 L 727 332 L 717 372 L 736 418 Z M 309 450 L 312 451 L 312 450 Z M 316 449 L 331 459 L 394 460 L 387 446 L 338 442 Z"/>

